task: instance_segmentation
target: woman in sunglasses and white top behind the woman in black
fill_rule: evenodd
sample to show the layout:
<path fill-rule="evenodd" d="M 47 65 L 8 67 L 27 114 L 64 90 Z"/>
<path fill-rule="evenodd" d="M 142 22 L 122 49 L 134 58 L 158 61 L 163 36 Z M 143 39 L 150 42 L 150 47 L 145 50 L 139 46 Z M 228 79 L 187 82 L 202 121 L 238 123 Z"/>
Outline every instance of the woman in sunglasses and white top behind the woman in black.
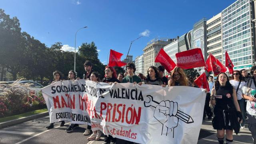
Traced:
<path fill-rule="evenodd" d="M 242 113 L 242 120 L 243 122 L 240 124 L 241 129 L 244 129 L 245 124 L 245 109 L 244 109 L 244 99 L 242 98 L 242 87 L 244 86 L 245 82 L 242 80 L 242 74 L 239 70 L 234 70 L 232 74 L 232 80 L 230 80 L 230 84 L 232 84 L 233 88 L 236 90 L 237 101 Z"/>

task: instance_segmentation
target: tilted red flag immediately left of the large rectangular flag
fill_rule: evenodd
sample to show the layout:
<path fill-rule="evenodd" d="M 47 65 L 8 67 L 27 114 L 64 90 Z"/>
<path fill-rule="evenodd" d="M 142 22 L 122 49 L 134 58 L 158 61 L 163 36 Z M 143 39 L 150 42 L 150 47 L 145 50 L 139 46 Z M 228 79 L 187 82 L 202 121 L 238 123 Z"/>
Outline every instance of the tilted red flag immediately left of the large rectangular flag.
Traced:
<path fill-rule="evenodd" d="M 176 66 L 176 64 L 172 61 L 170 56 L 166 54 L 163 48 L 158 52 L 155 62 L 160 62 L 162 66 L 167 70 L 167 72 L 171 72 Z"/>

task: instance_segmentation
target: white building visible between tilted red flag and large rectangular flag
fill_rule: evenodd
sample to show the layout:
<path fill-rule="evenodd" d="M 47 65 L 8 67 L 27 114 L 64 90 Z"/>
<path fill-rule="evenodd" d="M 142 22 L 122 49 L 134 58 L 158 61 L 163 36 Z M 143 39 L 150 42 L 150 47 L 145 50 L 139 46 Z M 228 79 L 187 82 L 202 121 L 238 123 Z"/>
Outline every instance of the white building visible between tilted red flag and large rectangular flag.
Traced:
<path fill-rule="evenodd" d="M 179 39 L 175 38 L 172 40 L 172 43 L 164 47 L 164 51 L 166 52 L 166 54 L 168 54 L 168 56 L 170 56 L 170 58 L 173 60 L 173 62 L 175 62 L 175 64 L 177 63 L 175 54 L 180 52 L 178 43 Z M 167 72 L 165 72 L 165 74 L 167 74 Z"/>

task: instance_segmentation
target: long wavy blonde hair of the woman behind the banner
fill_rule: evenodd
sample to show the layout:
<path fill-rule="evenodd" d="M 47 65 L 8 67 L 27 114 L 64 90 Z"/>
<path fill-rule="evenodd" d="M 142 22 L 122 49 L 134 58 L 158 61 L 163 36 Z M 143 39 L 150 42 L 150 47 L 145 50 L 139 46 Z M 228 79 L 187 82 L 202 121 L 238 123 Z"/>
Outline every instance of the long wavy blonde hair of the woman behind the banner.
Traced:
<path fill-rule="evenodd" d="M 180 67 L 176 67 L 176 68 L 174 68 L 174 70 L 172 70 L 173 82 L 172 82 L 171 86 L 175 86 L 174 72 L 178 72 L 180 74 L 180 79 L 178 80 L 178 82 L 180 83 L 180 86 L 188 86 L 188 80 L 186 79 L 187 76 L 183 72 L 182 68 L 180 68 Z"/>

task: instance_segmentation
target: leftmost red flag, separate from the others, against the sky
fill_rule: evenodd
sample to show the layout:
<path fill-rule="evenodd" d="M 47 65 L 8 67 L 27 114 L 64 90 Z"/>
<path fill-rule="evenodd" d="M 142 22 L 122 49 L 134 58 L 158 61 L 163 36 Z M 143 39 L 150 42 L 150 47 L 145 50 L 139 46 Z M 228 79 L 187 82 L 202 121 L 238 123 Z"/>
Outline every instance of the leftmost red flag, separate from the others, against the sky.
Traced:
<path fill-rule="evenodd" d="M 123 54 L 121 54 L 120 52 L 116 52 L 114 50 L 110 49 L 110 55 L 109 55 L 109 63 L 108 66 L 124 66 L 126 65 L 125 62 L 121 61 L 121 56 Z"/>

